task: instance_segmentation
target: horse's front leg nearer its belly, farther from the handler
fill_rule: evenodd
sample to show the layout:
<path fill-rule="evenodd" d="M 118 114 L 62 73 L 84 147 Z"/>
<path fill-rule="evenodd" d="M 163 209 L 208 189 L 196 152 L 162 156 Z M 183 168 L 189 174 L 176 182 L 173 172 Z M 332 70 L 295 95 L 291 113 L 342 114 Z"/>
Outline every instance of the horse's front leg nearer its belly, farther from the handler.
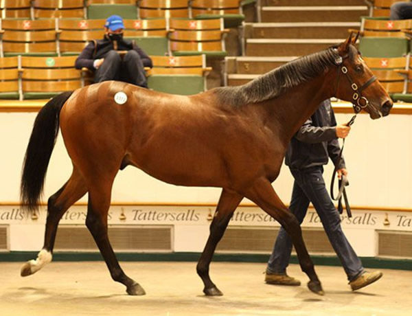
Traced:
<path fill-rule="evenodd" d="M 225 229 L 230 221 L 230 218 L 242 199 L 243 196 L 234 192 L 228 192 L 225 189 L 223 189 L 222 194 L 220 194 L 218 207 L 216 207 L 216 212 L 210 225 L 209 238 L 207 238 L 205 249 L 203 250 L 196 267 L 198 275 L 202 278 L 203 284 L 205 284 L 203 293 L 206 295 L 223 295 L 223 293 L 220 292 L 216 285 L 210 280 L 209 266 L 216 249 L 216 245 L 218 245 L 223 233 L 225 233 Z"/>

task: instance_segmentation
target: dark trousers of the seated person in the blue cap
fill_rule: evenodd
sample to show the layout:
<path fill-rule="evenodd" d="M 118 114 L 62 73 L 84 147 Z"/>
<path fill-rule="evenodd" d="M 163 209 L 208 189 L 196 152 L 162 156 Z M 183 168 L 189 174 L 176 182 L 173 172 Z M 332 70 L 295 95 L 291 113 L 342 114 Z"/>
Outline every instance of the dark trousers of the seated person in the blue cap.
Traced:
<path fill-rule="evenodd" d="M 120 80 L 147 88 L 144 65 L 139 53 L 129 50 L 122 60 L 115 50 L 108 52 L 102 65 L 95 71 L 94 82 L 106 80 Z"/>

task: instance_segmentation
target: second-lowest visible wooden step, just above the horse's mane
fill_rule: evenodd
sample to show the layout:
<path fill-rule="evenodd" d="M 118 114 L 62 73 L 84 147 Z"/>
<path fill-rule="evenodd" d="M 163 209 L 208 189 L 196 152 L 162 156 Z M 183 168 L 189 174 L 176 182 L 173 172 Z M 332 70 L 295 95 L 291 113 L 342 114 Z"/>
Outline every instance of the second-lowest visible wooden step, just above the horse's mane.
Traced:
<path fill-rule="evenodd" d="M 236 56 L 226 57 L 226 72 L 228 74 L 266 74 L 277 67 L 280 67 L 297 56 L 288 57 L 255 57 Z"/>

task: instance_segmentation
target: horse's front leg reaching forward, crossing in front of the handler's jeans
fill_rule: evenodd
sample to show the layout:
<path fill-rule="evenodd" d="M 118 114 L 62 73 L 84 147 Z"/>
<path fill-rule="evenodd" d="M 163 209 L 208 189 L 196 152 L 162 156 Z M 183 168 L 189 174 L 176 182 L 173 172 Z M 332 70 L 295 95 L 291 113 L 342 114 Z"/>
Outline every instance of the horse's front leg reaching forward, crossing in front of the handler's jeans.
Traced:
<path fill-rule="evenodd" d="M 279 199 L 279 196 L 277 196 L 275 190 L 273 190 L 271 183 L 267 179 L 260 178 L 253 183 L 245 196 L 255 202 L 262 208 L 262 210 L 275 218 L 275 220 L 284 227 L 295 246 L 301 269 L 310 279 L 308 288 L 314 293 L 323 295 L 321 282 L 319 281 L 317 274 L 314 272 L 313 262 L 310 259 L 308 250 L 306 249 L 302 238 L 299 222 Z"/>

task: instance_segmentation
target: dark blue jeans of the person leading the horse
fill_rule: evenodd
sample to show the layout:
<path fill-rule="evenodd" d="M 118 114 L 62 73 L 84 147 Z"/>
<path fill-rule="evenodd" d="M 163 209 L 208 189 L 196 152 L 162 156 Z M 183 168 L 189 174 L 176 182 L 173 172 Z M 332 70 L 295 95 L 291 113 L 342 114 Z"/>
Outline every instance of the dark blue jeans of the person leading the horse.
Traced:
<path fill-rule="evenodd" d="M 348 280 L 354 280 L 363 273 L 362 262 L 356 256 L 354 249 L 347 241 L 341 228 L 341 218 L 339 212 L 334 207 L 332 200 L 325 188 L 323 180 L 323 168 L 314 167 L 305 170 L 290 170 L 295 183 L 293 184 L 292 201 L 290 201 L 290 211 L 296 216 L 297 221 L 302 223 L 309 202 L 314 205 L 317 214 L 321 218 L 323 228 L 330 240 L 330 243 L 342 262 L 343 269 Z M 292 251 L 292 241 L 285 229 L 281 227 L 277 236 L 275 247 L 271 258 L 268 261 L 267 271 L 269 273 L 286 273 L 290 252 Z"/>

